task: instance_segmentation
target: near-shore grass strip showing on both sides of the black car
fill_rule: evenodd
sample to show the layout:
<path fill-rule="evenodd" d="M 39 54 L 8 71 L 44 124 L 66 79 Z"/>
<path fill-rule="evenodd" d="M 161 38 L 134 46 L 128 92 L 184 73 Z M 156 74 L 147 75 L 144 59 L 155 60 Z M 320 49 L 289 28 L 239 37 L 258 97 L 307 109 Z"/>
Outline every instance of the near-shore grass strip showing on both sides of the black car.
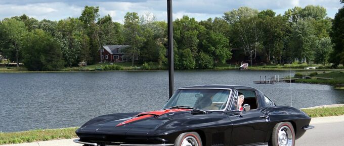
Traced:
<path fill-rule="evenodd" d="M 312 118 L 344 115 L 344 107 L 302 109 L 302 111 L 307 113 Z M 0 132 L 0 144 L 14 144 L 54 139 L 76 138 L 76 129 L 76 127 L 73 127 L 9 133 Z"/>

